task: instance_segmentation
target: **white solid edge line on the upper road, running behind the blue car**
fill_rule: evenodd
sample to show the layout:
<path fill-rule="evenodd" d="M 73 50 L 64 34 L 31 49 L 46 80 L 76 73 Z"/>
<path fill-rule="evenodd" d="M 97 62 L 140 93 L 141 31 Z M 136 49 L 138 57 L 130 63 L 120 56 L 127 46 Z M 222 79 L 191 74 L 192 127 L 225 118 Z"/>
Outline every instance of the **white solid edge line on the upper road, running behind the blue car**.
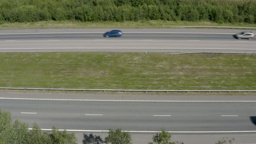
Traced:
<path fill-rule="evenodd" d="M 63 33 L 0 33 L 0 35 L 19 35 L 19 34 L 64 34 Z M 66 32 L 69 33 L 69 32 Z M 105 32 L 70 32 L 70 33 L 105 33 Z M 123 33 L 178 33 L 178 32 L 123 32 Z M 184 32 L 186 33 L 186 32 Z M 235 34 L 235 33 L 189 33 L 188 34 Z"/>

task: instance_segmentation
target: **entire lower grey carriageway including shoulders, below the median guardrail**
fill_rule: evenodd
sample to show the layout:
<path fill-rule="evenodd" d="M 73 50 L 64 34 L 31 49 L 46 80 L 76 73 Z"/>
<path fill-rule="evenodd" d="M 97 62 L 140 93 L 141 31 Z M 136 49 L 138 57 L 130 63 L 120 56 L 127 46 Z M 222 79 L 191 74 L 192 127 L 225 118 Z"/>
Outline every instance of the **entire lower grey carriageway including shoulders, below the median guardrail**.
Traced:
<path fill-rule="evenodd" d="M 44 100 L 43 100 L 44 99 Z M 159 102 L 161 101 L 161 102 Z M 172 141 L 214 144 L 235 137 L 234 144 L 256 141 L 256 97 L 253 95 L 97 95 L 0 93 L 0 108 L 13 119 L 40 128 L 100 135 L 109 128 L 130 131 L 134 144 L 146 144 L 165 128 Z M 223 131 L 225 131 L 223 133 Z M 181 132 L 181 133 L 180 133 Z M 233 133 L 235 132 L 235 133 Z"/>

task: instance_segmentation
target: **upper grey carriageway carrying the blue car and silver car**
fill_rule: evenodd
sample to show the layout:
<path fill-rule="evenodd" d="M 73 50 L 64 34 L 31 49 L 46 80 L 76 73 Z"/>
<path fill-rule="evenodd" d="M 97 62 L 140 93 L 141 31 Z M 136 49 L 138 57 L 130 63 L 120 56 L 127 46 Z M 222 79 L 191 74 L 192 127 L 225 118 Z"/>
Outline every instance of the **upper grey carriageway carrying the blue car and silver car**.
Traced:
<path fill-rule="evenodd" d="M 256 39 L 238 40 L 239 30 L 124 29 L 104 38 L 107 29 L 0 30 L 0 52 L 255 52 Z"/>

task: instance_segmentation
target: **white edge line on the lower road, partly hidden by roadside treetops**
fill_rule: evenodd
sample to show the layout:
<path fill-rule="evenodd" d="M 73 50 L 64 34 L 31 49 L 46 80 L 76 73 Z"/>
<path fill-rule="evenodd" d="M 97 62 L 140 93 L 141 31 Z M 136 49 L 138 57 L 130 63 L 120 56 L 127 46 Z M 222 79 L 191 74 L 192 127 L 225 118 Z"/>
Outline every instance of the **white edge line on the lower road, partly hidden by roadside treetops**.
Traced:
<path fill-rule="evenodd" d="M 32 128 L 29 128 L 32 130 Z M 52 131 L 52 129 L 44 129 L 43 131 Z M 64 130 L 59 129 L 59 131 L 77 131 L 77 132 L 108 132 L 107 130 Z M 137 132 L 137 133 L 160 133 L 161 131 L 125 131 L 125 132 Z M 248 133 L 256 131 L 167 131 L 169 133 Z"/>

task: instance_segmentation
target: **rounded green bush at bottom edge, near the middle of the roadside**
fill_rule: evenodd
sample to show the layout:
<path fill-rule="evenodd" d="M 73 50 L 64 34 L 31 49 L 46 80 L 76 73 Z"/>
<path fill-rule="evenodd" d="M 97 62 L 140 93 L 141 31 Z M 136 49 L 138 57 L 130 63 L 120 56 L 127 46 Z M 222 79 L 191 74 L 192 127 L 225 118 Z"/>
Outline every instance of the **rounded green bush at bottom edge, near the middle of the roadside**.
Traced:
<path fill-rule="evenodd" d="M 105 137 L 106 144 L 131 144 L 131 134 L 128 132 L 117 130 L 108 130 L 108 136 Z"/>

